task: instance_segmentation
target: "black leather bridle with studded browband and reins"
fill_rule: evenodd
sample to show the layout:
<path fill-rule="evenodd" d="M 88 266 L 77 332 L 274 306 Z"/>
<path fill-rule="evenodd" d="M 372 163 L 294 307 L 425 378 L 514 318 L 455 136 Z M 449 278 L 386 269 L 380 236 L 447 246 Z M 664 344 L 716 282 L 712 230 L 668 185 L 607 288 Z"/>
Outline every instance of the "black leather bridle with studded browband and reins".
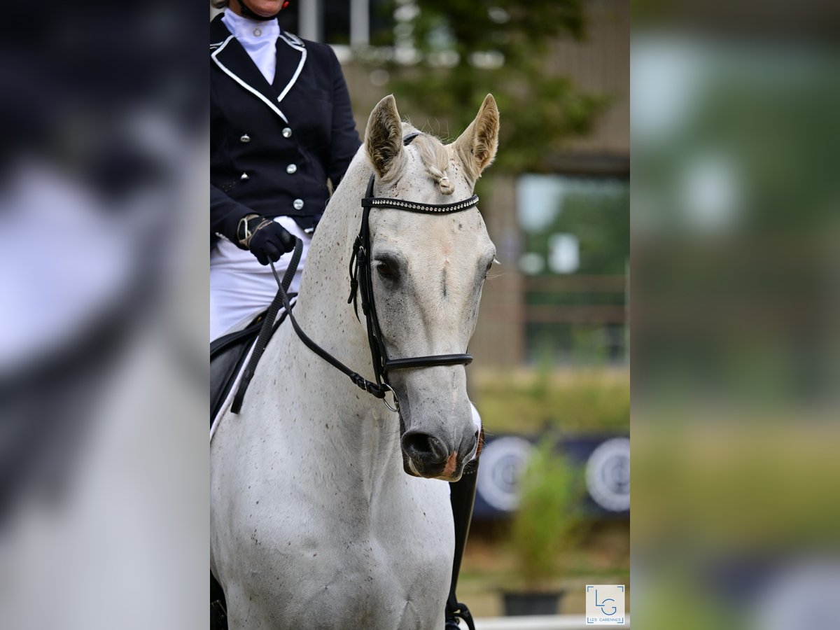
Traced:
<path fill-rule="evenodd" d="M 409 144 L 417 137 L 417 135 L 419 135 L 419 132 L 407 135 L 402 139 L 402 144 Z M 468 199 L 454 203 L 433 204 L 411 202 L 404 199 L 374 197 L 374 181 L 375 173 L 371 173 L 365 197 L 361 200 L 362 222 L 359 235 L 356 237 L 353 244 L 353 255 L 350 257 L 350 295 L 347 298 L 347 303 L 349 304 L 352 302 L 356 318 L 360 319 L 357 296 L 361 297 L 362 313 L 365 315 L 365 323 L 367 324 L 370 361 L 373 365 L 375 382 L 368 381 L 358 372 L 350 370 L 349 367 L 333 357 L 332 354 L 329 354 L 325 349 L 312 341 L 312 339 L 303 332 L 297 323 L 297 319 L 291 313 L 291 304 L 289 303 L 289 297 L 286 295 L 286 291 L 289 286 L 286 279 L 291 281 L 291 275 L 294 274 L 294 271 L 291 271 L 290 275 L 290 272 L 287 269 L 284 281 L 281 282 L 280 276 L 277 275 L 277 271 L 274 268 L 274 263 L 271 263 L 271 271 L 274 273 L 276 278 L 278 291 L 274 302 L 272 302 L 269 307 L 269 314 L 274 312 L 276 317 L 276 312 L 282 303 L 283 307 L 286 308 L 292 327 L 295 329 L 297 336 L 301 339 L 303 344 L 307 346 L 307 348 L 311 349 L 315 354 L 318 354 L 319 357 L 327 361 L 330 365 L 333 365 L 334 368 L 343 372 L 344 375 L 349 376 L 349 379 L 353 381 L 356 386 L 360 387 L 360 389 L 363 389 L 370 395 L 381 398 L 385 401 L 385 404 L 392 412 L 398 412 L 399 403 L 396 400 L 396 393 L 394 394 L 394 403 L 396 407 L 391 407 L 391 405 L 389 405 L 385 400 L 385 396 L 388 391 L 391 391 L 392 393 L 394 392 L 388 379 L 389 370 L 407 370 L 408 368 L 435 367 L 438 365 L 469 365 L 472 363 L 472 356 L 470 354 L 433 354 L 432 356 L 407 357 L 402 359 L 388 358 L 385 342 L 382 338 L 382 331 L 379 325 L 379 318 L 376 316 L 373 281 L 370 274 L 370 208 L 391 208 L 394 210 L 404 210 L 410 213 L 424 214 L 458 213 L 470 207 L 474 207 L 475 204 L 478 203 L 478 195 L 473 195 Z M 294 266 L 296 268 L 297 260 L 300 260 L 301 249 L 302 242 L 300 239 L 297 239 L 297 243 L 295 244 L 295 253 L 292 255 L 292 260 L 294 261 Z M 265 322 L 263 323 L 263 329 L 260 331 L 260 337 L 257 339 L 254 351 L 251 354 L 248 367 L 242 375 L 242 380 L 239 383 L 239 390 L 237 391 L 236 396 L 234 396 L 234 402 L 231 405 L 231 411 L 234 413 L 239 413 L 239 409 L 241 408 L 242 401 L 244 399 L 245 390 L 248 388 L 249 382 L 254 376 L 257 362 L 260 360 L 260 356 L 265 350 L 265 345 L 268 343 L 270 333 L 273 329 L 274 318 L 267 316 L 265 318 Z"/>

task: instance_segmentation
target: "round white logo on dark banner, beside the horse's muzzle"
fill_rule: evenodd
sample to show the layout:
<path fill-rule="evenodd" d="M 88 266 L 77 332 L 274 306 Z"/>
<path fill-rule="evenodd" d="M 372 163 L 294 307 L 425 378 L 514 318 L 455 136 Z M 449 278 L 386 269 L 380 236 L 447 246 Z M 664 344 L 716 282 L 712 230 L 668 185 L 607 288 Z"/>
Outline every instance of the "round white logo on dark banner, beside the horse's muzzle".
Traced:
<path fill-rule="evenodd" d="M 519 475 L 533 446 L 524 438 L 496 438 L 481 451 L 475 489 L 491 507 L 512 512 L 519 505 Z"/>

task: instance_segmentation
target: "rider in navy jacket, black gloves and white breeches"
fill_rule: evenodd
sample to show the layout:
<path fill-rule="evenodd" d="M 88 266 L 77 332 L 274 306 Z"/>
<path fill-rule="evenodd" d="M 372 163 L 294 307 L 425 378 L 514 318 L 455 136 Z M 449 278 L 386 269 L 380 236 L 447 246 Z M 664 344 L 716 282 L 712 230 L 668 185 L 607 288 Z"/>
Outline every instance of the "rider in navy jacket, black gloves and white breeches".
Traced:
<path fill-rule="evenodd" d="M 333 50 L 281 30 L 284 0 L 213 0 L 210 24 L 210 339 L 265 309 L 359 149 Z M 297 291 L 300 268 L 291 285 Z"/>

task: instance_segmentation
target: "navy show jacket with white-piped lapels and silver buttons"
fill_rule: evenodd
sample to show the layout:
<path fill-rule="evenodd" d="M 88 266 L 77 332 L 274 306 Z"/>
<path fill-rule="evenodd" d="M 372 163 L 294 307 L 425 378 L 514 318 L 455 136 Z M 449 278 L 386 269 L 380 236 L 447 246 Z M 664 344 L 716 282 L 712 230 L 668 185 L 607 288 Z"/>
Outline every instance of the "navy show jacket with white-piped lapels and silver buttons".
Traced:
<path fill-rule="evenodd" d="M 326 207 L 359 149 L 339 60 L 328 45 L 281 32 L 269 85 L 218 15 L 210 23 L 210 234 L 236 242 L 246 214 L 301 228 Z"/>

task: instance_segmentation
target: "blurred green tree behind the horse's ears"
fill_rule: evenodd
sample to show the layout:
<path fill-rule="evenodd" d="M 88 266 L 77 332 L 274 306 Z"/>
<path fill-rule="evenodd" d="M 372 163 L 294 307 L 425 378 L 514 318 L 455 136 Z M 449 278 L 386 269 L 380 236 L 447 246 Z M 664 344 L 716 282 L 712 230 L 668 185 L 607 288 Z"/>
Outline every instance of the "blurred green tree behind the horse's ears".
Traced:
<path fill-rule="evenodd" d="M 549 63 L 557 41 L 585 39 L 584 0 L 389 0 L 381 7 L 396 27 L 380 32 L 382 40 L 374 37 L 375 47 L 360 57 L 389 72 L 388 88 L 401 109 L 433 115 L 438 123 L 446 113 L 445 123 L 431 129 L 438 135 L 465 129 L 492 92 L 504 147 L 494 171 L 548 171 L 544 158 L 564 139 L 588 132 L 607 104 Z M 393 45 L 394 54 L 376 52 L 381 45 Z"/>

